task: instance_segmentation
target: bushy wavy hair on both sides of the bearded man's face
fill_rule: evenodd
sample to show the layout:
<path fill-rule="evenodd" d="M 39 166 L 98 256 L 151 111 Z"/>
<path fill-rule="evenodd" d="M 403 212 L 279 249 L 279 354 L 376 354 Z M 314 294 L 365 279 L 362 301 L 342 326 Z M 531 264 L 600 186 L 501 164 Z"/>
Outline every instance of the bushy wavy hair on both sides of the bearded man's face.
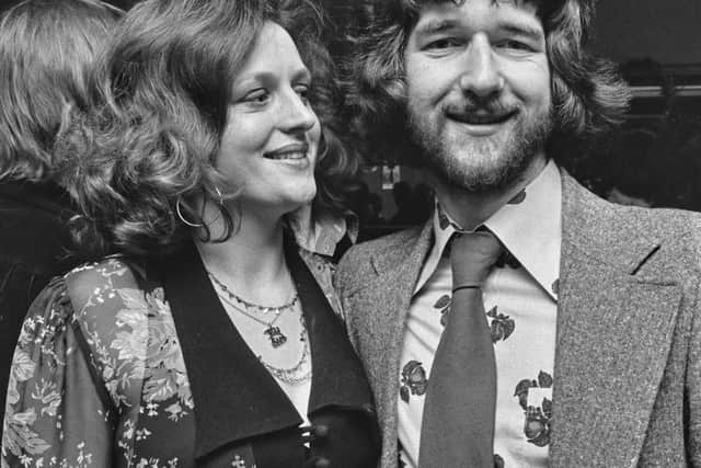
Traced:
<path fill-rule="evenodd" d="M 350 50 L 344 62 L 346 118 L 370 157 L 418 164 L 405 138 L 404 49 L 422 5 L 464 0 L 365 1 L 349 30 Z M 530 3 L 545 32 L 553 95 L 553 133 L 549 153 L 568 167 L 577 151 L 622 122 L 630 93 L 616 67 L 591 56 L 586 46 L 595 0 L 493 0 Z M 564 160 L 563 158 L 570 158 Z"/>

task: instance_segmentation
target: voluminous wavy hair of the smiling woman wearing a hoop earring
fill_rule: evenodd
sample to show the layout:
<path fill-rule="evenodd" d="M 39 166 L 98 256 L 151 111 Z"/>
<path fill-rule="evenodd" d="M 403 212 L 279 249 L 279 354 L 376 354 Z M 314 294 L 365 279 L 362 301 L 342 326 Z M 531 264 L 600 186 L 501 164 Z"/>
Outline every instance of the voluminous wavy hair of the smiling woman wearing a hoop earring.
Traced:
<path fill-rule="evenodd" d="M 84 216 L 74 229 L 89 256 L 168 253 L 203 225 L 203 240 L 237 228 L 231 186 L 214 161 L 231 83 L 264 22 L 287 30 L 313 79 L 322 124 L 318 207 L 342 212 L 359 158 L 338 137 L 341 94 L 312 0 L 146 0 L 124 18 L 94 79 L 93 109 L 76 113 L 58 148 L 76 155 L 66 174 Z M 194 199 L 212 199 L 226 225 L 212 239 Z M 179 209 L 182 217 L 179 217 Z"/>

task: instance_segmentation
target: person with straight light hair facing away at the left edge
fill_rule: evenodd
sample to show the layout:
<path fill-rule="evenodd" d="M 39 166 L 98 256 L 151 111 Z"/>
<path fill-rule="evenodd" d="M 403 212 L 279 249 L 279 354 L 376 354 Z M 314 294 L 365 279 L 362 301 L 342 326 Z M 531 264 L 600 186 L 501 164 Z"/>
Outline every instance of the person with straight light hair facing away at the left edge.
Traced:
<path fill-rule="evenodd" d="M 0 420 L 26 310 L 78 262 L 51 146 L 66 109 L 87 100 L 87 70 L 119 16 L 92 0 L 25 0 L 0 16 Z"/>

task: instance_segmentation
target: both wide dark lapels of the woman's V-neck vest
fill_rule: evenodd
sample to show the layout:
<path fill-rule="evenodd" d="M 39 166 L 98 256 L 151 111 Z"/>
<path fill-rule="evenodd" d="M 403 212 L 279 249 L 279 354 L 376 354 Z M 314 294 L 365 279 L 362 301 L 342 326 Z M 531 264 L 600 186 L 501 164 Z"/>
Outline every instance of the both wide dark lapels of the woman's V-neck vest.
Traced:
<path fill-rule="evenodd" d="M 309 414 L 330 406 L 368 413 L 372 400 L 363 367 L 296 249 L 286 241 L 312 354 Z M 195 402 L 195 457 L 299 425 L 295 407 L 223 310 L 194 243 L 153 267 L 171 306 Z"/>

